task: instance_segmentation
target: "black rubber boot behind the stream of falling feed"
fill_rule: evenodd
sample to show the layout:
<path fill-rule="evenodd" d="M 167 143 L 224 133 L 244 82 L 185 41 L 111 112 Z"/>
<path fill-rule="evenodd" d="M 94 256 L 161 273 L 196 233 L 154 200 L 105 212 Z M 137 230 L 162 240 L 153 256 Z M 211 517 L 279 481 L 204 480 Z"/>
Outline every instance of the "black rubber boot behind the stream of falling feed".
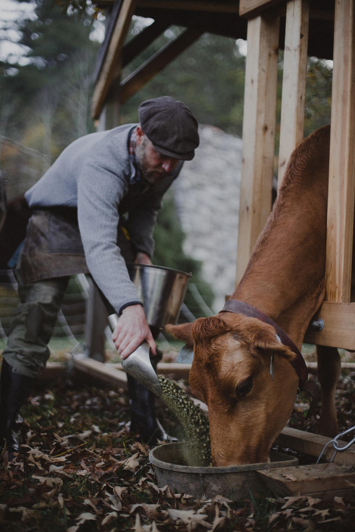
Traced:
<path fill-rule="evenodd" d="M 151 356 L 154 370 L 161 360 L 162 353 L 156 350 L 156 356 Z M 156 445 L 159 440 L 167 439 L 167 434 L 156 418 L 155 395 L 138 380 L 127 374 L 128 395 L 131 406 L 130 431 L 138 433 L 144 443 Z"/>

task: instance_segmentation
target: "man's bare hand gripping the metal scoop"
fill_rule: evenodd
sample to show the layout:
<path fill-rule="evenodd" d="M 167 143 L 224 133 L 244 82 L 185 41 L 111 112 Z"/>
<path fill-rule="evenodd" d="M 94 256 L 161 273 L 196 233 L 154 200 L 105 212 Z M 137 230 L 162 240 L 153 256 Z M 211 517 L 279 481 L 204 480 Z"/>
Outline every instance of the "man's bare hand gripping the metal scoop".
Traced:
<path fill-rule="evenodd" d="M 153 355 L 156 355 L 156 345 L 142 305 L 130 305 L 123 309 L 113 331 L 112 340 L 122 359 L 133 353 L 143 340 L 146 340 Z"/>

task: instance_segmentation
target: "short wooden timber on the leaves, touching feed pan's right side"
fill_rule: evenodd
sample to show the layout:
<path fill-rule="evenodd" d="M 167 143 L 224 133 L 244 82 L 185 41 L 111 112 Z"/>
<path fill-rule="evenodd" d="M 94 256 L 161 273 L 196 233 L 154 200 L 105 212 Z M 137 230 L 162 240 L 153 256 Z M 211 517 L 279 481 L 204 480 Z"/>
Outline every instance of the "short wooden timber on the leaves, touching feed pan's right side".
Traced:
<path fill-rule="evenodd" d="M 271 491 L 284 497 L 349 489 L 355 482 L 355 471 L 346 472 L 334 463 L 264 469 L 257 473 Z"/>

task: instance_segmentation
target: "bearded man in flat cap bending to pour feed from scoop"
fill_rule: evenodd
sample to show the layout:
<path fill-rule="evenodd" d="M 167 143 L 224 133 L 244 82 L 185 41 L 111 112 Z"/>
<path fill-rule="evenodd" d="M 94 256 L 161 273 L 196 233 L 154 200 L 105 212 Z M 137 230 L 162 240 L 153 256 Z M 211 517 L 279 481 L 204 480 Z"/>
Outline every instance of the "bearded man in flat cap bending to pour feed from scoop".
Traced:
<path fill-rule="evenodd" d="M 34 210 L 19 253 L 20 305 L 3 352 L 0 445 L 19 450 L 19 409 L 49 356 L 69 276 L 90 273 L 119 320 L 112 338 L 122 358 L 146 340 L 156 354 L 143 303 L 126 262 L 151 264 L 161 200 L 199 145 L 198 124 L 182 102 L 147 100 L 139 124 L 86 135 L 64 149 L 25 194 Z M 143 439 L 159 429 L 151 393 L 129 379 L 131 430 Z"/>

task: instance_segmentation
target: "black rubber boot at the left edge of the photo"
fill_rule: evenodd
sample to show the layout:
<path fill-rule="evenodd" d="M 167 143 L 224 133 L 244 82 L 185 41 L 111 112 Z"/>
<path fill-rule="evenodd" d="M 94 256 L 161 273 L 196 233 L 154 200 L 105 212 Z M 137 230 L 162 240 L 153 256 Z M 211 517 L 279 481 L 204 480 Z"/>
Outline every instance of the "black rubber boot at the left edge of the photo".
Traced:
<path fill-rule="evenodd" d="M 5 446 L 9 459 L 20 450 L 19 410 L 31 393 L 36 379 L 22 375 L 3 358 L 0 375 L 0 450 Z"/>

